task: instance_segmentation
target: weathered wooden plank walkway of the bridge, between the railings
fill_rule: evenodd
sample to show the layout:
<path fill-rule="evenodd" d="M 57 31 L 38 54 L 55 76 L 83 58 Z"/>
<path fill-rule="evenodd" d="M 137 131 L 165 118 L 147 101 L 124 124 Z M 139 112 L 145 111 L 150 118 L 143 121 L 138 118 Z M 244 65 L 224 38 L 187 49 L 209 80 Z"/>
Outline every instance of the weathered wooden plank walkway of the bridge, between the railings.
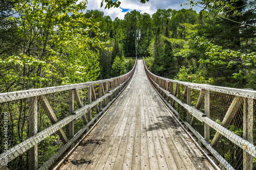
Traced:
<path fill-rule="evenodd" d="M 119 100 L 63 169 L 214 169 L 162 104 L 138 60 Z"/>

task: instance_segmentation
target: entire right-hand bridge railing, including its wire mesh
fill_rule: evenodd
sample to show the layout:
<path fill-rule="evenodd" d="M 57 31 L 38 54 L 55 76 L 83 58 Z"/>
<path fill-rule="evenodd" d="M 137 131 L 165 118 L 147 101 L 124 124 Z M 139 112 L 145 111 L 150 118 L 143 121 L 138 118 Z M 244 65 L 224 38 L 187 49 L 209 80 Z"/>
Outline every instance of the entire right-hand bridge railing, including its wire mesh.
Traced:
<path fill-rule="evenodd" d="M 166 105 L 225 169 L 256 169 L 256 91 L 162 78 L 145 65 Z"/>

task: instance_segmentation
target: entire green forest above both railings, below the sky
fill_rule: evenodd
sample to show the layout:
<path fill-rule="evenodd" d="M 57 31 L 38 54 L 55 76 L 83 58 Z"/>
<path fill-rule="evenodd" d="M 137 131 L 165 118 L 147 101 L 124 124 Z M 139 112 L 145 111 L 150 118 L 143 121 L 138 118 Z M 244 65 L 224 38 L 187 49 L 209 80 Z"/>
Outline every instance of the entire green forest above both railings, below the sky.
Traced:
<path fill-rule="evenodd" d="M 86 10 L 87 1 L 1 0 L 0 90 L 120 76 L 136 56 L 162 77 L 256 89 L 255 2 L 188 4 L 202 10 L 134 10 L 112 20 Z"/>

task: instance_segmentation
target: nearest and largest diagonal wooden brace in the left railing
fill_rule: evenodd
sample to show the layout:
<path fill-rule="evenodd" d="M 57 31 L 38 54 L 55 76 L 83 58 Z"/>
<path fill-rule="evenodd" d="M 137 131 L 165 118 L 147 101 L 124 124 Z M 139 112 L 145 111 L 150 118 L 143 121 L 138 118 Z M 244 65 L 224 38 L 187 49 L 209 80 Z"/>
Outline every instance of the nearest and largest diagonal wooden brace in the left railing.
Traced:
<path fill-rule="evenodd" d="M 58 119 L 56 115 L 54 114 L 50 103 L 48 102 L 45 95 L 39 95 L 38 96 L 39 104 L 42 106 L 42 108 L 45 110 L 46 115 L 49 117 L 52 124 L 56 124 L 58 122 Z M 60 140 L 65 144 L 68 142 L 68 137 L 64 133 L 63 129 L 57 130 L 57 134 L 59 135 Z"/>

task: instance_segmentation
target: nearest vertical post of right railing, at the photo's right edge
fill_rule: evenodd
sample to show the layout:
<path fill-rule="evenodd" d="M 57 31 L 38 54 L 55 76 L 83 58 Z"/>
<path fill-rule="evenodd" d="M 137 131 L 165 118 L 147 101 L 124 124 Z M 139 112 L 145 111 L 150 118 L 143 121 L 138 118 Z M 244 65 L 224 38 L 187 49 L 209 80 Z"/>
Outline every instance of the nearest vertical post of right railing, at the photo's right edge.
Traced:
<path fill-rule="evenodd" d="M 244 98 L 243 138 L 253 143 L 253 99 L 251 98 Z M 244 149 L 247 149 L 246 145 L 244 145 Z M 243 152 L 243 168 L 244 170 L 252 170 L 253 157 L 245 150 Z"/>

